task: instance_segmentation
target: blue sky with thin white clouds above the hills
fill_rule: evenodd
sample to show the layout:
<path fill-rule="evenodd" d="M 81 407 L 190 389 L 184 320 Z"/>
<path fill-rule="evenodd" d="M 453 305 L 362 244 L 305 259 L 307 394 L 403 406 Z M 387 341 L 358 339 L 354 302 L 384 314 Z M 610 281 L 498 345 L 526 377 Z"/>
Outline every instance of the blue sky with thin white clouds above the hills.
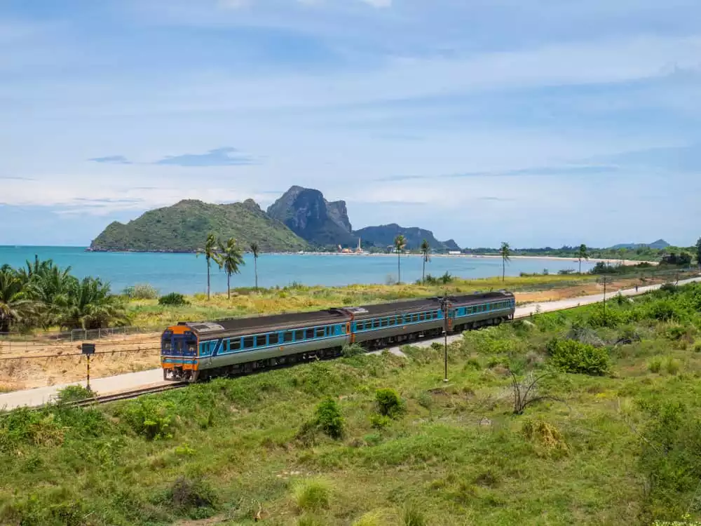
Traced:
<path fill-rule="evenodd" d="M 297 184 L 461 246 L 701 235 L 697 0 L 0 0 L 0 245 Z"/>

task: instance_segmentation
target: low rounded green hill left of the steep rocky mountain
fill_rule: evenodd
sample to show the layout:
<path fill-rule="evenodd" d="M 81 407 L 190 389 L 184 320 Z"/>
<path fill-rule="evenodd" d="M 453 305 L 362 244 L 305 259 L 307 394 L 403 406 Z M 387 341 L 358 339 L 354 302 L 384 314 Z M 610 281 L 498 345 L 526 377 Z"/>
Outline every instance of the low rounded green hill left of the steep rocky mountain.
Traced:
<path fill-rule="evenodd" d="M 113 222 L 90 243 L 90 250 L 135 252 L 195 252 L 207 234 L 236 238 L 243 247 L 256 241 L 264 252 L 304 250 L 308 245 L 252 199 L 215 205 L 185 200 L 144 213 L 127 224 Z"/>

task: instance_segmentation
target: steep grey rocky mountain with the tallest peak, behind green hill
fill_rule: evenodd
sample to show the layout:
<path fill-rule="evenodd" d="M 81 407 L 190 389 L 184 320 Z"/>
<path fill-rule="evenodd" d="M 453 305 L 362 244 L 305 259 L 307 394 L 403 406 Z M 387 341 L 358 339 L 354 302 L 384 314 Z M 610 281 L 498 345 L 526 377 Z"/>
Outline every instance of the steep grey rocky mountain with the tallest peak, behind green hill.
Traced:
<path fill-rule="evenodd" d="M 291 187 L 268 207 L 268 216 L 284 223 L 299 237 L 318 247 L 353 245 L 345 201 L 329 203 L 315 189 Z"/>

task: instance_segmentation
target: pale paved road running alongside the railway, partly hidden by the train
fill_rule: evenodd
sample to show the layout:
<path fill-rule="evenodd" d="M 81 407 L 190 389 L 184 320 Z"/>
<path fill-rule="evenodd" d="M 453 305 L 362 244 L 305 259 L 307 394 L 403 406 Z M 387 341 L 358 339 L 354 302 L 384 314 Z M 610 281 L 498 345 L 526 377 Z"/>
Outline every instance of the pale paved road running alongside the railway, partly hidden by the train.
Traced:
<path fill-rule="evenodd" d="M 679 281 L 679 285 L 684 285 L 693 281 L 701 281 L 701 277 Z M 635 289 L 627 289 L 621 290 L 620 293 L 624 296 L 634 296 L 658 288 L 660 288 L 660 285 L 648 285 L 646 287 L 640 287 L 638 292 L 636 292 Z M 613 297 L 613 295 L 615 294 L 618 294 L 618 292 L 608 293 L 607 297 Z M 603 301 L 603 299 L 603 294 L 594 294 L 591 296 L 560 299 L 557 302 L 540 302 L 527 304 L 517 307 L 515 317 L 526 318 L 532 313 L 536 313 L 538 307 L 540 307 L 540 312 L 559 311 L 562 309 L 571 309 L 579 305 L 588 305 L 592 303 L 601 302 Z M 454 342 L 460 337 L 461 335 L 450 336 L 448 338 L 448 342 Z M 414 342 L 413 345 L 420 347 L 428 346 L 434 341 L 436 340 L 427 339 L 421 342 Z M 398 346 L 391 347 L 388 350 L 392 353 L 403 356 L 403 353 Z M 93 379 L 90 382 L 90 387 L 92 387 L 94 391 L 97 391 L 97 393 L 108 394 L 119 391 L 130 391 L 132 389 L 138 389 L 140 387 L 163 385 L 167 383 L 169 382 L 163 382 L 163 371 L 161 369 L 151 369 L 141 372 L 130 372 L 126 375 Z M 15 407 L 21 407 L 23 405 L 42 405 L 44 403 L 50 402 L 51 400 L 54 400 L 59 389 L 63 389 L 64 387 L 69 385 L 85 386 L 85 384 L 86 382 L 74 382 L 72 384 L 39 387 L 37 389 L 27 389 L 25 391 L 13 391 L 12 393 L 0 394 L 0 410 L 15 409 Z"/>

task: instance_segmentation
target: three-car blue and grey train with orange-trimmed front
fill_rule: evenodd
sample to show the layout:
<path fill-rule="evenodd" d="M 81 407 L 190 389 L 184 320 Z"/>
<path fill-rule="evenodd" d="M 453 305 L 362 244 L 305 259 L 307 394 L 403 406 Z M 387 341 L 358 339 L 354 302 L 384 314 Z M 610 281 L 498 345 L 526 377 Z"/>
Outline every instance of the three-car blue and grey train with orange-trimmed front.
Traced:
<path fill-rule="evenodd" d="M 163 379 L 198 382 L 368 351 L 512 320 L 512 292 L 479 292 L 311 312 L 179 322 L 163 331 Z"/>

